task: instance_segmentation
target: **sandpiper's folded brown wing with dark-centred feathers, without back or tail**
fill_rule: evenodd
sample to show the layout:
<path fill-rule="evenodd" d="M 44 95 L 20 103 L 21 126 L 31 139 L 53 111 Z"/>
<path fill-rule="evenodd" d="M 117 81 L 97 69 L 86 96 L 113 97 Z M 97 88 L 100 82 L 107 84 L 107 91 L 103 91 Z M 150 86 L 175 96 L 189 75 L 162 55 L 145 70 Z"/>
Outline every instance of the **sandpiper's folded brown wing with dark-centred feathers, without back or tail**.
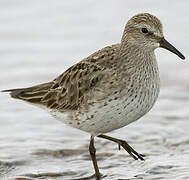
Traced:
<path fill-rule="evenodd" d="M 75 110 L 86 100 L 86 94 L 102 78 L 103 68 L 80 62 L 54 80 L 41 102 L 48 108 Z"/>

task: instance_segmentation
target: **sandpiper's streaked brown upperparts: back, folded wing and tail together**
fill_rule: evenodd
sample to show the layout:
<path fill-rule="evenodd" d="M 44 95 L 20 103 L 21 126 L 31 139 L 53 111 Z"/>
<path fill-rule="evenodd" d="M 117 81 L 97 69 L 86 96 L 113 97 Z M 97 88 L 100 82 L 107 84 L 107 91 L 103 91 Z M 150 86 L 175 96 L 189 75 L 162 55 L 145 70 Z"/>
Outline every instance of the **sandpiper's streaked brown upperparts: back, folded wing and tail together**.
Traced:
<path fill-rule="evenodd" d="M 98 87 L 98 83 L 101 83 L 103 87 L 107 80 L 111 80 L 112 62 L 118 48 L 119 44 L 97 51 L 70 67 L 52 82 L 29 88 L 5 90 L 4 92 L 11 92 L 13 98 L 51 109 L 75 110 L 83 102 L 87 102 L 87 99 L 90 98 L 89 92 Z M 105 89 L 104 86 L 100 92 L 96 88 L 100 98 Z"/>

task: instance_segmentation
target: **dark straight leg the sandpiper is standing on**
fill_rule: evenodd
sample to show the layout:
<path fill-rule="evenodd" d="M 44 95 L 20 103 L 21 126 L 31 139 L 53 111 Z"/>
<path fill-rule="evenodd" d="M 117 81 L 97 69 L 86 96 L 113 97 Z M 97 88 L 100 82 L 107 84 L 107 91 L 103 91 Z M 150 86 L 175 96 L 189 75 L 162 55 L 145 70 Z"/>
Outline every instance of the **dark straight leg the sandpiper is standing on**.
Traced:
<path fill-rule="evenodd" d="M 90 155 L 91 155 L 91 159 L 93 161 L 96 180 L 100 180 L 101 174 L 99 172 L 99 168 L 98 168 L 98 164 L 97 164 L 97 160 L 96 160 L 96 149 L 94 147 L 94 137 L 93 136 L 91 136 L 91 140 L 90 140 L 90 144 L 89 144 L 89 152 L 90 152 Z"/>

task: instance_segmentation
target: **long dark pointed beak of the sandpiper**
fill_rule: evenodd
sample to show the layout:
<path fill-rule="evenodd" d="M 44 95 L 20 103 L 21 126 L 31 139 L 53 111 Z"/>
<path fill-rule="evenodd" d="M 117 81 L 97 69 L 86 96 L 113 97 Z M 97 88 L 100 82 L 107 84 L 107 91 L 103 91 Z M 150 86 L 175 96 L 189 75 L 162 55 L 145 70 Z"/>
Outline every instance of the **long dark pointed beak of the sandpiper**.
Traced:
<path fill-rule="evenodd" d="M 165 49 L 171 51 L 172 53 L 175 53 L 181 59 L 185 59 L 183 54 L 181 52 L 179 52 L 174 46 L 172 46 L 165 38 L 162 38 L 159 43 L 160 43 L 160 47 L 165 48 Z"/>

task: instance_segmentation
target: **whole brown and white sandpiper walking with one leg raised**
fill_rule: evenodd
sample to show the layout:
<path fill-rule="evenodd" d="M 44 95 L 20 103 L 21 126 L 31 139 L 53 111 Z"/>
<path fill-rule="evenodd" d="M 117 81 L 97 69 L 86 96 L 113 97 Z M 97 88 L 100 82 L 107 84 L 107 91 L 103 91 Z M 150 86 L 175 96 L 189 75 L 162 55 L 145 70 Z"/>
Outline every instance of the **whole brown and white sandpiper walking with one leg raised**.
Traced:
<path fill-rule="evenodd" d="M 154 50 L 158 47 L 185 59 L 165 40 L 158 18 L 137 14 L 127 22 L 119 44 L 95 52 L 53 81 L 2 92 L 10 92 L 13 98 L 42 107 L 63 123 L 90 133 L 89 152 L 99 180 L 94 137 L 116 142 L 134 159 L 144 160 L 126 141 L 104 134 L 138 120 L 156 102 L 160 80 Z"/>

